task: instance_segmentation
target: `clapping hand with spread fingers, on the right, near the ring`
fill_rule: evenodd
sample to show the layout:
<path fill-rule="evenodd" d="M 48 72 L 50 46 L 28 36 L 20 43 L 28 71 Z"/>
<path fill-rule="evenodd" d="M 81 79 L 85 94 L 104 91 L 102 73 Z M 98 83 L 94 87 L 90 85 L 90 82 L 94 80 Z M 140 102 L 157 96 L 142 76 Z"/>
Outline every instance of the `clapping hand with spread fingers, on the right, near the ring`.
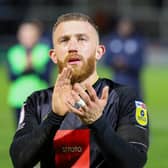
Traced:
<path fill-rule="evenodd" d="M 88 93 L 80 86 L 80 84 L 75 84 L 71 92 L 75 102 L 83 99 L 86 103 L 85 106 L 76 109 L 70 102 L 67 103 L 67 105 L 69 110 L 77 114 L 83 123 L 92 124 L 98 120 L 103 113 L 108 100 L 109 88 L 107 86 L 103 88 L 100 98 L 98 98 L 96 91 L 91 85 L 87 84 L 86 89 Z"/>

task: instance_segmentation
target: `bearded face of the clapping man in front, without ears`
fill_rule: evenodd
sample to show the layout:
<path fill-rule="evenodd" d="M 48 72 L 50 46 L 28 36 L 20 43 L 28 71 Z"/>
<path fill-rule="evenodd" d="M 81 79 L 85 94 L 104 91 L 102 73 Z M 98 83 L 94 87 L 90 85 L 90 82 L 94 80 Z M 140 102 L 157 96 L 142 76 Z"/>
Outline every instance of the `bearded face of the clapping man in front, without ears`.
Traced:
<path fill-rule="evenodd" d="M 84 21 L 60 23 L 53 34 L 54 52 L 59 73 L 72 67 L 72 83 L 88 78 L 96 69 L 98 36 Z"/>

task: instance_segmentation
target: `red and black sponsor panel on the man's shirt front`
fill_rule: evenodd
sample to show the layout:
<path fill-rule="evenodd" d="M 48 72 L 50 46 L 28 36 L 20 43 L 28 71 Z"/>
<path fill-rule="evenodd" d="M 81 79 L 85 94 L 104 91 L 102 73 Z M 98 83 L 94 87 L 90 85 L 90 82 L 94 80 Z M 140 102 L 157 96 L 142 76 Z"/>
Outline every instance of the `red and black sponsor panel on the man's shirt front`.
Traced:
<path fill-rule="evenodd" d="M 89 129 L 58 130 L 53 141 L 56 167 L 90 167 Z"/>

